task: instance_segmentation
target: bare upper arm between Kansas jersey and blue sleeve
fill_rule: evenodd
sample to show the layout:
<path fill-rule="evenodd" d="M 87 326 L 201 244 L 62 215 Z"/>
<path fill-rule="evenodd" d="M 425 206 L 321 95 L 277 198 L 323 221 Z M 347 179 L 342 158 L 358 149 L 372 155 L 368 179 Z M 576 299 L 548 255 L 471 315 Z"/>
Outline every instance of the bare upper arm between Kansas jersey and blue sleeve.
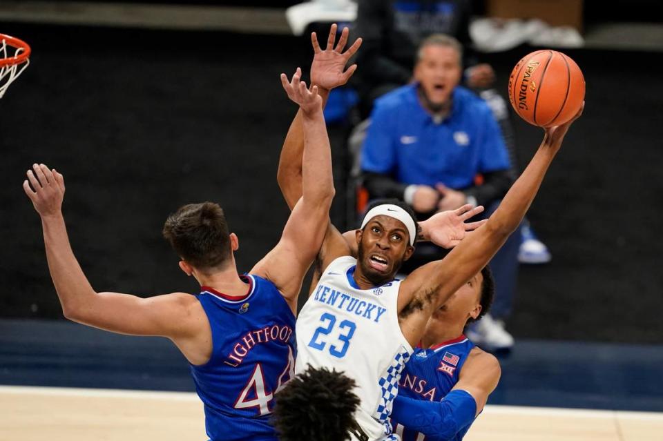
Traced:
<path fill-rule="evenodd" d="M 479 415 L 483 411 L 483 406 L 486 406 L 488 395 L 497 387 L 501 373 L 499 361 L 494 355 L 474 348 L 463 364 L 459 381 L 452 390 L 470 393 L 477 403 L 477 415 Z"/>

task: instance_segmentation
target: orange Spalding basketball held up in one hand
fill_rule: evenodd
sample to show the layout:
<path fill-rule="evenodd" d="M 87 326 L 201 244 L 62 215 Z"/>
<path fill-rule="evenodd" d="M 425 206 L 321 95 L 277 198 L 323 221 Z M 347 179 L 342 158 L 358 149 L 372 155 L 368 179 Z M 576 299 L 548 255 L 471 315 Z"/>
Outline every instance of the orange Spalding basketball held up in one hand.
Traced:
<path fill-rule="evenodd" d="M 509 101 L 522 119 L 539 127 L 564 124 L 585 99 L 585 79 L 578 65 L 556 50 L 523 57 L 509 77 Z"/>

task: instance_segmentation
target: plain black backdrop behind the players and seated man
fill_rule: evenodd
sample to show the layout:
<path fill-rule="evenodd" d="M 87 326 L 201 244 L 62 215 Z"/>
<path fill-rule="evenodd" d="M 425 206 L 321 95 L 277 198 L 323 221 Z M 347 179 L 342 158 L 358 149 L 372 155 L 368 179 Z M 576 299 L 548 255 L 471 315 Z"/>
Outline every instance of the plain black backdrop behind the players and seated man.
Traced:
<path fill-rule="evenodd" d="M 61 317 L 39 217 L 21 189 L 34 161 L 66 177 L 64 213 L 98 291 L 193 292 L 160 235 L 166 215 L 220 202 L 240 237 L 240 271 L 276 244 L 287 208 L 276 164 L 296 108 L 280 72 L 308 66 L 307 39 L 3 24 L 32 43 L 0 101 L 0 316 Z M 501 90 L 521 46 L 486 55 Z M 659 53 L 567 50 L 584 70 L 586 112 L 530 210 L 553 262 L 521 267 L 516 337 L 663 339 Z M 361 68 L 361 67 L 360 67 Z M 516 121 L 521 161 L 540 130 Z M 332 128 L 345 219 L 343 128 Z"/>

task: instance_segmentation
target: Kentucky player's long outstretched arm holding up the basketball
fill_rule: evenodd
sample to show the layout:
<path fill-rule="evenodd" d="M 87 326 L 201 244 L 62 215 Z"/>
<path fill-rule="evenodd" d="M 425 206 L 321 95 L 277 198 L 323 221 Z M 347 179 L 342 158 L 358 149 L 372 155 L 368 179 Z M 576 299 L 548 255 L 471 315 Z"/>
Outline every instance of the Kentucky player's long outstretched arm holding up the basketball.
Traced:
<path fill-rule="evenodd" d="M 515 231 L 532 204 L 564 135 L 581 114 L 582 109 L 568 123 L 545 129 L 544 139 L 530 164 L 486 224 L 463 239 L 444 259 L 422 266 L 403 281 L 398 311 L 408 340 L 418 340 L 430 313 L 481 271 Z"/>

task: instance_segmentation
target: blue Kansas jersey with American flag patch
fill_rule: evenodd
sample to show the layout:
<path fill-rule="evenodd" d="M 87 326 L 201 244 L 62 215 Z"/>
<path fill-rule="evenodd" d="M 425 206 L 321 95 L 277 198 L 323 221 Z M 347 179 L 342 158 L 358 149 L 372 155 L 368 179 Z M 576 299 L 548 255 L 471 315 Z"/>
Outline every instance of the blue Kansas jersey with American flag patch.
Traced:
<path fill-rule="evenodd" d="M 398 395 L 418 400 L 441 401 L 458 382 L 458 376 L 474 344 L 465 335 L 454 338 L 429 349 L 414 349 L 410 361 L 398 382 Z M 398 421 L 392 421 L 394 433 L 401 435 L 403 441 L 423 441 L 422 433 L 408 430 Z M 468 427 L 459 431 L 449 441 L 463 439 Z"/>

